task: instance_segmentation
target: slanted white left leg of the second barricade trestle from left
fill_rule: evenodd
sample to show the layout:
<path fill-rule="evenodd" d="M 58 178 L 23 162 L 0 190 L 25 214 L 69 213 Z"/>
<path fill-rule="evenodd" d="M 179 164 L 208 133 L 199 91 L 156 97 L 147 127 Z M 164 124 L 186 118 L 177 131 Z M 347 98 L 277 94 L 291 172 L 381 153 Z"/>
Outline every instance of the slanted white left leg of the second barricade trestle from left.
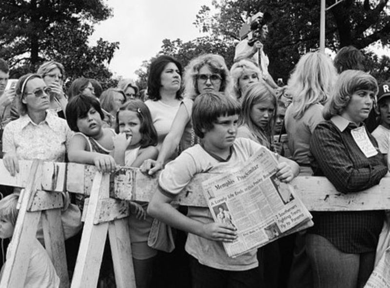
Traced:
<path fill-rule="evenodd" d="M 94 225 L 93 222 L 99 200 L 109 196 L 109 177 L 109 174 L 96 173 L 93 180 L 71 288 L 95 288 L 98 285 L 98 271 L 107 238 L 108 222 L 98 225 Z"/>

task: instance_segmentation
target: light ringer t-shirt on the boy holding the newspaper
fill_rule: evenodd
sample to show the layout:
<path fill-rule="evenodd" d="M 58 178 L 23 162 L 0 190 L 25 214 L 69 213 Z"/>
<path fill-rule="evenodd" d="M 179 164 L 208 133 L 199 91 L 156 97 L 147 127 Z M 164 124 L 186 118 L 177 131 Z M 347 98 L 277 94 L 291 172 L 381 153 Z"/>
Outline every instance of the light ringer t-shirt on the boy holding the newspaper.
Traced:
<path fill-rule="evenodd" d="M 227 162 L 219 162 L 208 154 L 199 144 L 183 151 L 175 160 L 167 163 L 159 177 L 159 184 L 169 196 L 176 194 L 191 181 L 197 173 L 224 173 L 237 166 L 237 163 L 246 161 L 258 149 L 260 144 L 246 139 L 235 139 L 232 146 L 232 155 Z M 188 217 L 202 223 L 214 222 L 208 208 L 188 207 Z M 200 264 L 221 270 L 245 271 L 258 266 L 256 249 L 230 258 L 223 248 L 222 242 L 212 241 L 188 233 L 185 246 L 187 253 L 195 257 Z"/>

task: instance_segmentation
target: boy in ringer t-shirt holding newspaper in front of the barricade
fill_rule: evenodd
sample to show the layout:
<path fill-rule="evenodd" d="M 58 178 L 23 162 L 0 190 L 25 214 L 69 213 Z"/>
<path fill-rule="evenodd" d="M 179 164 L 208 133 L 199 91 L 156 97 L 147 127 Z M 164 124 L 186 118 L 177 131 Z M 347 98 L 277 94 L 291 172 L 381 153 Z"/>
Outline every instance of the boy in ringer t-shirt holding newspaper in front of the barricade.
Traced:
<path fill-rule="evenodd" d="M 171 206 L 172 199 L 197 173 L 223 173 L 246 161 L 262 145 L 250 139 L 236 139 L 239 103 L 222 93 L 204 93 L 194 102 L 192 121 L 202 144 L 182 152 L 169 162 L 159 177 L 159 189 L 148 213 L 168 225 L 189 232 L 186 251 L 191 257 L 193 287 L 258 287 L 260 271 L 256 249 L 236 258 L 227 256 L 222 242 L 233 242 L 236 229 L 229 223 L 215 223 L 208 208 L 189 207 L 188 216 Z M 279 156 L 278 178 L 289 182 L 299 166 Z M 222 172 L 221 172 L 222 171 Z"/>

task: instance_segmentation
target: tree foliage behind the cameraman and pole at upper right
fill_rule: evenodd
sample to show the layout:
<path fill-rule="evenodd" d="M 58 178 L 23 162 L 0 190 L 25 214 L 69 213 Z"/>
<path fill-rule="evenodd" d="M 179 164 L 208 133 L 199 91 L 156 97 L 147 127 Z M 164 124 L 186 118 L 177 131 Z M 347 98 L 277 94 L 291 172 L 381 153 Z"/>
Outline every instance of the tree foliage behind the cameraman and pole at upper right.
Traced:
<path fill-rule="evenodd" d="M 334 3 L 335 0 L 326 0 L 327 7 Z M 183 65 L 198 54 L 217 53 L 225 57 L 230 67 L 241 26 L 246 16 L 258 11 L 273 16 L 264 44 L 274 79 L 283 78 L 286 82 L 299 58 L 319 48 L 319 0 L 214 0 L 212 5 L 214 9 L 203 5 L 194 21 L 200 32 L 210 36 L 186 43 L 180 39 L 164 39 L 160 53 L 176 57 Z M 378 40 L 381 46 L 390 46 L 389 6 L 389 0 L 339 2 L 326 13 L 326 47 L 333 52 L 346 45 L 363 49 L 368 57 L 368 70 L 380 79 L 386 78 L 389 58 L 378 58 L 365 48 Z M 145 61 L 138 71 L 144 78 L 147 67 Z"/>

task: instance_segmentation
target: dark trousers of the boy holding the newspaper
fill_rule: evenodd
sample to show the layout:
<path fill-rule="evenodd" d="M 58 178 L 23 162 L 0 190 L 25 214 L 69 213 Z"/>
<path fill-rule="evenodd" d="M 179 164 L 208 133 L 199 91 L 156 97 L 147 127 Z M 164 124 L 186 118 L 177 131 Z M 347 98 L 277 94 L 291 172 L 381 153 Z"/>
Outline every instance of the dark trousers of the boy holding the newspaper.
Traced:
<path fill-rule="evenodd" d="M 258 288 L 260 269 L 245 271 L 228 271 L 202 265 L 194 257 L 190 257 L 192 288 Z"/>

